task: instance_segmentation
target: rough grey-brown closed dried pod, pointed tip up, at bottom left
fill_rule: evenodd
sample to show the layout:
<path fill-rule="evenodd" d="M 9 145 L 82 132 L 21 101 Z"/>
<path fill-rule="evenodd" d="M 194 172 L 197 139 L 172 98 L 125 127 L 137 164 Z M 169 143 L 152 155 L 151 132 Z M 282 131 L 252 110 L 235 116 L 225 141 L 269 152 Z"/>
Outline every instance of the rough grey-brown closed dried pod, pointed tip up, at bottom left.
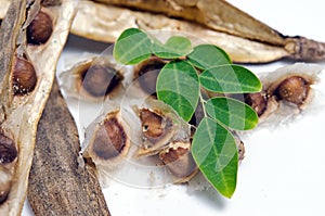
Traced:
<path fill-rule="evenodd" d="M 110 215 L 95 167 L 83 164 L 79 151 L 77 127 L 55 82 L 39 122 L 29 175 L 35 215 Z"/>

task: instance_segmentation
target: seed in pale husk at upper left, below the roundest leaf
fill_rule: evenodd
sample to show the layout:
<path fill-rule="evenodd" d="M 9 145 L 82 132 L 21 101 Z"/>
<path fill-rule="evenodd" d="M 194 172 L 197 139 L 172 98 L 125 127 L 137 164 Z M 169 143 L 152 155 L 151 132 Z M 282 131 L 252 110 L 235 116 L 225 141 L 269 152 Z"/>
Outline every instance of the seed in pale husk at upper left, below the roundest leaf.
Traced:
<path fill-rule="evenodd" d="M 121 69 L 109 58 L 91 58 L 60 75 L 65 92 L 78 99 L 102 100 L 121 87 Z"/>

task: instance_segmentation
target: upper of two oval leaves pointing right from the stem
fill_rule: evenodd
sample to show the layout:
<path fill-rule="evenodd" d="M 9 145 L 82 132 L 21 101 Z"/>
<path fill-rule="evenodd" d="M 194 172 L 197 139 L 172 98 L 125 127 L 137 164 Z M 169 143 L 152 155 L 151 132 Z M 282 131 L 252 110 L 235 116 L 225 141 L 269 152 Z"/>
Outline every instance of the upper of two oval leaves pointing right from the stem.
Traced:
<path fill-rule="evenodd" d="M 209 91 L 220 93 L 258 92 L 262 89 L 259 78 L 239 65 L 221 65 L 204 71 L 199 81 Z"/>

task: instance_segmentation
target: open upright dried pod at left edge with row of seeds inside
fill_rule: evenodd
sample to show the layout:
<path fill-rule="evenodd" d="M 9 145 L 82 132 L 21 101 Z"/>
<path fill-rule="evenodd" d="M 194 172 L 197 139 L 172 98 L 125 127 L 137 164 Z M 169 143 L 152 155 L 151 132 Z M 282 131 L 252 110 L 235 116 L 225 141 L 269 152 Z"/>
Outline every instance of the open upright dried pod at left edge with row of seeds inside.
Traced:
<path fill-rule="evenodd" d="M 21 214 L 37 124 L 73 20 L 74 1 L 53 2 L 14 0 L 1 25 L 0 215 Z"/>

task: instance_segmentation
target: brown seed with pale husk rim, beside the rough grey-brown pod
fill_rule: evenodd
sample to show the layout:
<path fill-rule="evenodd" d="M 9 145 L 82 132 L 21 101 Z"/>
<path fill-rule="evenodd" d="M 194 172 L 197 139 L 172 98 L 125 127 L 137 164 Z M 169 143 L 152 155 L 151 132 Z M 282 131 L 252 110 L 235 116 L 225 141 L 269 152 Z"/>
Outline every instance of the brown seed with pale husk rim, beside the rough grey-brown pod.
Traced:
<path fill-rule="evenodd" d="M 104 119 L 94 122 L 86 137 L 83 157 L 90 157 L 96 166 L 110 166 L 123 158 L 130 148 L 129 128 L 120 111 L 110 112 Z M 92 128 L 93 127 L 93 128 Z"/>

